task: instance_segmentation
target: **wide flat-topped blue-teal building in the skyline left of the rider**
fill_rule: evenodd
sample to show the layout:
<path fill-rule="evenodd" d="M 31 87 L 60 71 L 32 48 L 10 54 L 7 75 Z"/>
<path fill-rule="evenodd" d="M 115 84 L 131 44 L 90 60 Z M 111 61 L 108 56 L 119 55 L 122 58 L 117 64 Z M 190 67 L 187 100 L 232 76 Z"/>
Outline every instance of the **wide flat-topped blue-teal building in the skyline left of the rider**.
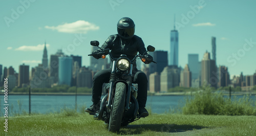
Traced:
<path fill-rule="evenodd" d="M 72 57 L 58 57 L 58 84 L 67 84 L 71 86 L 72 79 Z"/>

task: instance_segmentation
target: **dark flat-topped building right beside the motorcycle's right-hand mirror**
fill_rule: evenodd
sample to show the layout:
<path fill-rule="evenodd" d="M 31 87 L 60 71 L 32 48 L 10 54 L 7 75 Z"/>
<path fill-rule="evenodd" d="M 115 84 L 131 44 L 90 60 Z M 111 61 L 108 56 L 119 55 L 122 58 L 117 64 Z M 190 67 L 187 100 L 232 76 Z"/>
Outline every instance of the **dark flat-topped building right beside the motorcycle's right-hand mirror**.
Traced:
<path fill-rule="evenodd" d="M 155 51 L 153 52 L 154 61 L 157 63 L 150 64 L 150 73 L 158 72 L 161 73 L 165 66 L 168 65 L 167 51 Z"/>

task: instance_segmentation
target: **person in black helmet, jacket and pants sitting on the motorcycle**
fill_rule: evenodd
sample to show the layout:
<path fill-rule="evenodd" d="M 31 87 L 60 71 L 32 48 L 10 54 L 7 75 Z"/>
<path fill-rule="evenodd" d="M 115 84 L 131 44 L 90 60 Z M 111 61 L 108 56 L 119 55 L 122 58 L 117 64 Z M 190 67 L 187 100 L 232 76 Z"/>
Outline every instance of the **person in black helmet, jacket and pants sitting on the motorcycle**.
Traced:
<path fill-rule="evenodd" d="M 135 24 L 129 17 L 121 18 L 117 23 L 118 34 L 110 35 L 108 39 L 102 44 L 102 49 L 110 49 L 114 58 L 118 58 L 121 54 L 125 54 L 130 60 L 132 60 L 137 53 L 143 54 L 146 52 L 145 45 L 142 39 L 134 35 Z M 99 53 L 101 50 L 95 50 L 92 54 Z M 94 55 L 96 59 L 101 56 Z M 144 63 L 150 63 L 153 60 L 151 55 L 145 54 L 146 61 Z M 102 84 L 108 83 L 110 79 L 111 68 L 97 72 L 93 77 L 92 87 L 92 102 L 93 105 L 86 108 L 86 112 L 95 112 L 99 107 L 99 101 L 102 93 Z M 147 77 L 142 71 L 138 71 L 136 63 L 133 65 L 133 83 L 138 84 L 138 104 L 139 115 L 141 117 L 147 117 L 148 112 L 145 109 L 147 99 Z"/>

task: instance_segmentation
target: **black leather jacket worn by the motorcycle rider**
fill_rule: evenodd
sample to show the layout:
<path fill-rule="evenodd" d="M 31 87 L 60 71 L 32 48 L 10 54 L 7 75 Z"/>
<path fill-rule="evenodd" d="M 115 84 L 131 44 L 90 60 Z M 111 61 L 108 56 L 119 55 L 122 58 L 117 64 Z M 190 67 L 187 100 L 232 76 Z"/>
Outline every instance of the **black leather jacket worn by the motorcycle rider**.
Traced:
<path fill-rule="evenodd" d="M 143 54 L 146 52 L 145 44 L 142 39 L 134 35 L 132 39 L 121 39 L 118 34 L 110 35 L 108 39 L 102 44 L 102 49 L 110 49 L 114 58 L 118 58 L 121 54 L 125 54 L 132 60 L 137 53 Z M 134 64 L 134 69 L 137 69 Z"/>

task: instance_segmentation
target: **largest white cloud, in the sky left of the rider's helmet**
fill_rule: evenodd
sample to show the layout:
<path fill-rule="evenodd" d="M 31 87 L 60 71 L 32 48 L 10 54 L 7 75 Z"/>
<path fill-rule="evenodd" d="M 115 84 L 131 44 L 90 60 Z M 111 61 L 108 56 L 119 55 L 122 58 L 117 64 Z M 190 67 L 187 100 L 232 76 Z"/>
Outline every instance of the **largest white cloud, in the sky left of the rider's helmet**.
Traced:
<path fill-rule="evenodd" d="M 87 33 L 88 31 L 99 30 L 99 27 L 92 24 L 91 22 L 78 20 L 71 23 L 65 23 L 58 25 L 57 27 L 45 26 L 46 29 L 57 30 L 63 33 Z"/>

